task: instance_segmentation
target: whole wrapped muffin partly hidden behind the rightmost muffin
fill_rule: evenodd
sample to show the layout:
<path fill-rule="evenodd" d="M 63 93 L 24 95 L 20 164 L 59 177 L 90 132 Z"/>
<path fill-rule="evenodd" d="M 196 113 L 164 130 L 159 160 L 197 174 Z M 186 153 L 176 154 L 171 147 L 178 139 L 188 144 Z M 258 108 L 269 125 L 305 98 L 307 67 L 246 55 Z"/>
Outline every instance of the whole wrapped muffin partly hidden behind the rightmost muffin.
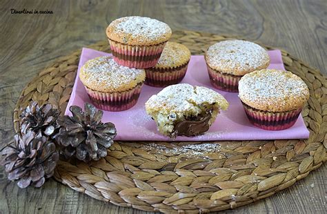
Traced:
<path fill-rule="evenodd" d="M 270 63 L 264 48 L 242 40 L 215 43 L 208 48 L 205 59 L 211 84 L 228 92 L 237 92 L 241 77 Z"/>

